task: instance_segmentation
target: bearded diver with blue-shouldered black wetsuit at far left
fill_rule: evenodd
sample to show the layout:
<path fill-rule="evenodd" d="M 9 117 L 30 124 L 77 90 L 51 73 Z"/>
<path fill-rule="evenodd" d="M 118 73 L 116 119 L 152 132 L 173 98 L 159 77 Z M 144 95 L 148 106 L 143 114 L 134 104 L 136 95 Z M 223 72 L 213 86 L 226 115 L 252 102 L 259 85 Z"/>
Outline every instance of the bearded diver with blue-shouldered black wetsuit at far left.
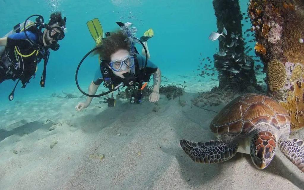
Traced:
<path fill-rule="evenodd" d="M 36 22 L 30 21 L 31 17 L 37 17 Z M 62 18 L 61 12 L 52 13 L 47 24 L 44 23 L 43 16 L 32 15 L 22 24 L 17 24 L 5 37 L 0 38 L 0 83 L 9 79 L 13 81 L 18 79 L 9 95 L 10 101 L 14 98 L 19 81 L 22 83 L 22 88 L 25 88 L 29 80 L 35 78 L 37 64 L 42 59 L 44 67 L 40 86 L 44 87 L 49 49 L 54 51 L 59 49 L 58 41 L 65 36 L 65 25 L 66 17 Z"/>

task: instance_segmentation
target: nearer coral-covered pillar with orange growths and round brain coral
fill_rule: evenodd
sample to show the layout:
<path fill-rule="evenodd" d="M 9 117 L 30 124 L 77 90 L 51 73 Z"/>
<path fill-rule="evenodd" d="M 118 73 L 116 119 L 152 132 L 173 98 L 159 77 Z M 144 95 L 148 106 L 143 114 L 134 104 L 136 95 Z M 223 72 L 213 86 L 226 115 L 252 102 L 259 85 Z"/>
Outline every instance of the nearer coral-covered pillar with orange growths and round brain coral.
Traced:
<path fill-rule="evenodd" d="M 250 0 L 256 54 L 266 72 L 268 95 L 289 113 L 292 129 L 304 127 L 304 1 Z"/>

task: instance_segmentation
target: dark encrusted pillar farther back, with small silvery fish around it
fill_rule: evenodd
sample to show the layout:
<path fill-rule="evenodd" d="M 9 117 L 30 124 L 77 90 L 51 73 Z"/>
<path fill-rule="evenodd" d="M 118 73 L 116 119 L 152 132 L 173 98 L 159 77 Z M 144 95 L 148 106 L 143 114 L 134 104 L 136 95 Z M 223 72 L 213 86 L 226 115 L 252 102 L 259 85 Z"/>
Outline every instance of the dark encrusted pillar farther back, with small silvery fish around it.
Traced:
<path fill-rule="evenodd" d="M 219 71 L 219 88 L 227 87 L 235 91 L 246 91 L 248 87 L 256 87 L 254 61 L 245 54 L 242 37 L 241 19 L 238 0 L 214 0 L 218 33 L 227 30 L 225 38 L 219 37 L 219 52 L 214 54 L 214 65 Z"/>

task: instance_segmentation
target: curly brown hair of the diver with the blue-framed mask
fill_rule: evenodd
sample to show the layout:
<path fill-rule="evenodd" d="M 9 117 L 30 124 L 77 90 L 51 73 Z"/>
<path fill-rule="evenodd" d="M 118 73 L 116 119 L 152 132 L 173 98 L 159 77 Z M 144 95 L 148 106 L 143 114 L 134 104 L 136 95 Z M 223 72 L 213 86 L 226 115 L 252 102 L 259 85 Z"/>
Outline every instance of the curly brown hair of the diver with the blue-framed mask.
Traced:
<path fill-rule="evenodd" d="M 120 30 L 111 32 L 111 36 L 102 40 L 101 48 L 95 54 L 99 54 L 102 60 L 110 61 L 111 55 L 118 50 L 127 50 L 130 53 L 130 42 L 127 38 Z"/>

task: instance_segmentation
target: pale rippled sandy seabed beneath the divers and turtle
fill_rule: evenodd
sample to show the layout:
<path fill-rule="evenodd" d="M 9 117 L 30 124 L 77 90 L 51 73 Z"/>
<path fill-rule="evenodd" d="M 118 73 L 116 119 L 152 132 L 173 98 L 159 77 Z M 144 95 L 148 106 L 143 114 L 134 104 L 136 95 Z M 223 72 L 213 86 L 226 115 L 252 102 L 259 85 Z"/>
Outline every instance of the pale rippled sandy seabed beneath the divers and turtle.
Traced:
<path fill-rule="evenodd" d="M 185 80 L 179 78 L 174 84 Z M 82 112 L 74 109 L 85 101 L 76 90 L 70 93 L 78 98 L 57 93 L 61 97 L 5 105 L 0 108 L 0 187 L 304 189 L 304 174 L 279 150 L 264 170 L 256 169 L 247 154 L 220 164 L 195 163 L 185 154 L 180 139 L 215 139 L 209 124 L 216 113 L 192 105 L 191 99 L 216 83 L 200 86 L 188 80 L 191 92 L 185 89 L 173 100 L 161 95 L 157 104 L 117 100 L 116 107 L 108 108 L 95 98 Z M 211 109 L 218 112 L 223 106 Z M 304 131 L 293 137 L 303 140 Z"/>

